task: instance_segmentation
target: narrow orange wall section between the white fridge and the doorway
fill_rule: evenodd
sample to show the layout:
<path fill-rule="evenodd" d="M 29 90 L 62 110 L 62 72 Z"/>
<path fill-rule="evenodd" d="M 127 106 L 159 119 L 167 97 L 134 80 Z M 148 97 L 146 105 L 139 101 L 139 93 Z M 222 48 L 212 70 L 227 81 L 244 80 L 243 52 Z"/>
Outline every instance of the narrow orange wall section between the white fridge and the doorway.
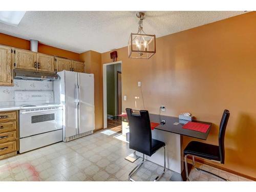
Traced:
<path fill-rule="evenodd" d="M 80 60 L 86 63 L 86 73 L 94 74 L 95 131 L 97 131 L 103 127 L 101 54 L 95 51 L 87 51 L 80 54 Z"/>

